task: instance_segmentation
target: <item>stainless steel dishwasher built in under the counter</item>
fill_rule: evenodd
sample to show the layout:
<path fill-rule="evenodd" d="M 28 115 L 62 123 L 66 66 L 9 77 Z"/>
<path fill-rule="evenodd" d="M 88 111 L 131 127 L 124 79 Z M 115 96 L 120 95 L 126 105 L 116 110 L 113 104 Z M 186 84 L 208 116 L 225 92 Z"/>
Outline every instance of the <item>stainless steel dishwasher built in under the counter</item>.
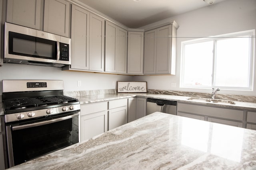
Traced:
<path fill-rule="evenodd" d="M 176 115 L 176 106 L 176 101 L 148 98 L 146 115 L 156 111 Z"/>

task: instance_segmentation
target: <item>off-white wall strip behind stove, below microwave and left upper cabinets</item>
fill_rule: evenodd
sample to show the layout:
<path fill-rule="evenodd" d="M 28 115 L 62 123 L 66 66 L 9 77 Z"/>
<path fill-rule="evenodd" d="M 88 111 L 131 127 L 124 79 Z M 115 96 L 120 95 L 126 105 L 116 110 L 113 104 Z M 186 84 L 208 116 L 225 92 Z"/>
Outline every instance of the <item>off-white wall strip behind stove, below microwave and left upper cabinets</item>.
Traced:
<path fill-rule="evenodd" d="M 61 68 L 4 63 L 0 67 L 0 80 L 64 80 L 64 91 L 115 89 L 112 83 L 130 81 L 132 76 L 90 72 L 62 71 Z M 77 81 L 81 80 L 81 86 Z M 2 94 L 2 82 L 0 83 Z"/>

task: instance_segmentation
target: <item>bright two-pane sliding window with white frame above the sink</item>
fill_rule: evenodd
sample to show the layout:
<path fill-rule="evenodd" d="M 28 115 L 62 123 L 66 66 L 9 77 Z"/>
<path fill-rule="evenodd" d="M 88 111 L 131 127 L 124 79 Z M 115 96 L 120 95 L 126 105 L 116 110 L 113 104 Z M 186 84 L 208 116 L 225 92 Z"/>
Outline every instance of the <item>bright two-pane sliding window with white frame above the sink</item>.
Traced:
<path fill-rule="evenodd" d="M 182 42 L 181 87 L 252 90 L 254 30 Z"/>

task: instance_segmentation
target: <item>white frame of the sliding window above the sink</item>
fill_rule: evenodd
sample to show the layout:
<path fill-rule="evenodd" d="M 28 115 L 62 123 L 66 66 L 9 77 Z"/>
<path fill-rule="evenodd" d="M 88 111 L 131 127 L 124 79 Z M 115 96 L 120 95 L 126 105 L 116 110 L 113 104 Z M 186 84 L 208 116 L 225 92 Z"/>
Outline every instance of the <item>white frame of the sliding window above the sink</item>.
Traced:
<path fill-rule="evenodd" d="M 227 39 L 227 38 L 234 38 L 234 37 L 243 37 L 245 35 L 251 36 L 251 46 L 250 46 L 250 63 L 249 63 L 249 86 L 246 88 L 242 87 L 226 87 L 226 86 L 214 86 L 214 78 L 215 78 L 215 72 L 216 72 L 216 41 L 220 39 Z M 206 41 L 214 41 L 213 45 L 213 65 L 212 65 L 212 84 L 211 86 L 186 86 L 184 85 L 184 62 L 185 62 L 185 45 L 193 44 L 193 43 L 200 43 L 200 42 L 206 42 Z M 199 38 L 199 39 L 193 39 L 188 41 L 182 41 L 181 42 L 181 62 L 180 62 L 180 88 L 222 88 L 226 90 L 246 90 L 246 91 L 252 91 L 253 90 L 253 83 L 254 83 L 254 53 L 255 53 L 255 30 L 248 30 L 248 31 L 241 31 L 236 33 L 228 33 L 224 35 L 218 35 L 218 36 L 210 36 L 205 38 Z"/>

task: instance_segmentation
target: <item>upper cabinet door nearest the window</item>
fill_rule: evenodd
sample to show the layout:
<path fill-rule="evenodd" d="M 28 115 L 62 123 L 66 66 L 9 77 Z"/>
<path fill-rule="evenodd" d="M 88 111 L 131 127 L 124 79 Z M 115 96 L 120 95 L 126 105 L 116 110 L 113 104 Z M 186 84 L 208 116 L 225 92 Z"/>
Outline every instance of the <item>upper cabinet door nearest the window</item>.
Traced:
<path fill-rule="evenodd" d="M 171 26 L 167 25 L 157 29 L 157 51 L 156 51 L 156 73 L 170 73 L 170 47 L 171 47 Z"/>

